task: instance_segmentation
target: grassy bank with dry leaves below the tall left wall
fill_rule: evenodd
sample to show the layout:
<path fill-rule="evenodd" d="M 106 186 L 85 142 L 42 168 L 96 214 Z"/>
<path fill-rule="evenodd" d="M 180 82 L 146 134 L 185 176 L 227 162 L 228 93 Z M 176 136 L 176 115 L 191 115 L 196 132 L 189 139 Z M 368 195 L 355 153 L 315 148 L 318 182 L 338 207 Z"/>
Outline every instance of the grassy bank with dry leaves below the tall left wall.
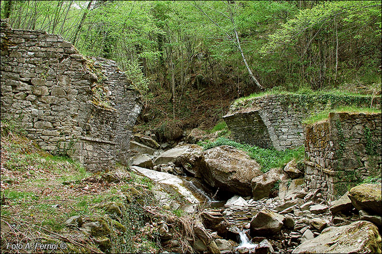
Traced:
<path fill-rule="evenodd" d="M 151 188 L 148 178 L 122 167 L 109 173 L 86 172 L 69 158 L 42 151 L 2 121 L 2 252 L 18 251 L 7 249 L 9 243 L 36 242 L 64 242 L 66 248 L 33 252 L 160 252 L 152 226 L 160 217 L 152 212 L 162 211 Z M 71 216 L 82 222 L 66 226 Z M 91 222 L 100 228 L 91 233 L 79 230 Z"/>

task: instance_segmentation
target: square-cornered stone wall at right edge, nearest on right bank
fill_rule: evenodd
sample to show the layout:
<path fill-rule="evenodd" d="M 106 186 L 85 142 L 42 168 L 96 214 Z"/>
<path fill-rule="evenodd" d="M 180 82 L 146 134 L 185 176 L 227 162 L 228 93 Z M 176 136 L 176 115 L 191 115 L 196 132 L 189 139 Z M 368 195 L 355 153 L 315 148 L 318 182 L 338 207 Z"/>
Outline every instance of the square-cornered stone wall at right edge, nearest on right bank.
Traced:
<path fill-rule="evenodd" d="M 305 181 L 330 200 L 381 176 L 381 113 L 330 113 L 306 126 Z"/>

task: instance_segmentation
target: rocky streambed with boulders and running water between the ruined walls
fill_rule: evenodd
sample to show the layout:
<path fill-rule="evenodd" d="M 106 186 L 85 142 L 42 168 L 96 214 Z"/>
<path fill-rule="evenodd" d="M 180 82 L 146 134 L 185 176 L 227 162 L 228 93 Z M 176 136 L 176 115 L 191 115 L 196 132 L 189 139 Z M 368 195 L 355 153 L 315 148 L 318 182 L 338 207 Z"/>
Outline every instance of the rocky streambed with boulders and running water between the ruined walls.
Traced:
<path fill-rule="evenodd" d="M 361 184 L 328 202 L 320 189 L 314 193 L 306 189 L 303 172 L 293 163 L 263 173 L 247 154 L 229 146 L 206 151 L 193 144 L 167 151 L 157 148 L 142 154 L 140 147 L 130 168 L 156 182 L 161 205 L 197 213 L 202 233 L 190 239 L 189 250 L 381 252 L 380 183 Z M 174 193 L 183 202 L 169 197 Z M 166 235 L 162 241 L 168 242 L 169 231 L 162 235 Z M 174 244 L 169 251 L 177 249 Z"/>

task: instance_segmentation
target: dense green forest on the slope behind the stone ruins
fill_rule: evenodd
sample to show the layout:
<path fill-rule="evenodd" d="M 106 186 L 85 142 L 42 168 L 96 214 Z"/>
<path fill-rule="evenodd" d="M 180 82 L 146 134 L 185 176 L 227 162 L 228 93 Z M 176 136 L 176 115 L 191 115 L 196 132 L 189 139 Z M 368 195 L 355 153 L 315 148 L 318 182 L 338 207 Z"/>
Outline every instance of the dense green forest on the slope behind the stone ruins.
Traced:
<path fill-rule="evenodd" d="M 199 111 L 210 127 L 233 99 L 271 88 L 380 90 L 380 1 L 2 1 L 1 8 L 13 28 L 60 34 L 84 55 L 117 61 L 144 98 L 143 126 L 165 118 L 171 129 L 194 128 Z"/>

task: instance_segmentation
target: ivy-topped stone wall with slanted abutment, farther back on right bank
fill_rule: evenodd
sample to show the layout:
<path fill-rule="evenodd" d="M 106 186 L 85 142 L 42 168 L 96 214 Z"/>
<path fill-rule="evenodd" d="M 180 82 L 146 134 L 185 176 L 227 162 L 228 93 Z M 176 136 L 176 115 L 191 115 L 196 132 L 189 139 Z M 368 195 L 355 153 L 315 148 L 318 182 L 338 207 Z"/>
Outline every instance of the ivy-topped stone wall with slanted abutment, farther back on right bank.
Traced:
<path fill-rule="evenodd" d="M 343 105 L 380 108 L 380 97 L 322 94 L 278 94 L 254 98 L 242 109 L 223 116 L 233 140 L 263 148 L 285 150 L 302 146 L 303 121 L 311 114 Z M 233 105 L 235 106 L 235 105 Z"/>

